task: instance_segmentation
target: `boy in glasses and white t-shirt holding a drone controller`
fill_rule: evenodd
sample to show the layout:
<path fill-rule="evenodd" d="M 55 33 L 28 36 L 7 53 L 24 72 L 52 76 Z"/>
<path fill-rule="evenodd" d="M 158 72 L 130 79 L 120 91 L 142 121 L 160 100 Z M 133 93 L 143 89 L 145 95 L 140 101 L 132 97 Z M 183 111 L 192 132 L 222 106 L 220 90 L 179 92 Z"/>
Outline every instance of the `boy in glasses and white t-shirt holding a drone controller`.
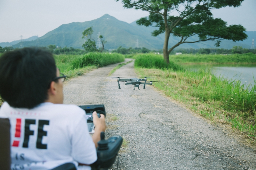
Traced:
<path fill-rule="evenodd" d="M 85 112 L 63 104 L 66 76 L 48 51 L 23 48 L 0 57 L 0 118 L 11 124 L 11 169 L 52 169 L 74 163 L 91 169 L 97 160 L 105 117 L 93 113 L 95 132 L 89 135 Z M 80 165 L 84 166 L 78 166 Z"/>

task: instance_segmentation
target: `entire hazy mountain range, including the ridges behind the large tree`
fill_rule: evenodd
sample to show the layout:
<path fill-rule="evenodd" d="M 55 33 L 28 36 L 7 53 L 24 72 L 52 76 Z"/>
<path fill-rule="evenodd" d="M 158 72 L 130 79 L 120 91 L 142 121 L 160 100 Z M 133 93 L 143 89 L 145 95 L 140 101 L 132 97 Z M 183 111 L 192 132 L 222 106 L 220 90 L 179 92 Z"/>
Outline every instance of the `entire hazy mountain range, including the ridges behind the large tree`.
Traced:
<path fill-rule="evenodd" d="M 163 48 L 164 34 L 160 34 L 157 37 L 151 36 L 151 32 L 155 30 L 155 27 L 140 26 L 137 25 L 135 21 L 128 24 L 124 21 L 119 21 L 108 14 L 92 21 L 63 24 L 36 40 L 23 41 L 22 46 L 48 46 L 53 44 L 62 47 L 82 48 L 82 45 L 85 42 L 85 39 L 82 39 L 82 32 L 91 26 L 94 31 L 92 37 L 97 41 L 97 36 L 100 32 L 107 41 L 105 44 L 105 48 L 107 49 L 116 49 L 119 46 L 126 48 L 136 47 L 137 40 L 139 47 L 146 47 L 148 49 Z M 249 38 L 244 41 L 232 42 L 230 40 L 223 40 L 220 44 L 220 48 L 230 49 L 233 46 L 250 48 L 252 37 L 256 38 L 256 31 L 247 32 L 247 34 Z M 193 36 L 190 39 L 197 40 L 198 37 Z M 169 39 L 169 46 L 173 46 L 178 40 L 179 38 L 171 36 Z M 21 42 L 13 45 L 13 47 L 19 47 L 20 44 Z M 214 44 L 215 42 L 213 41 L 185 43 L 178 48 L 215 48 Z"/>

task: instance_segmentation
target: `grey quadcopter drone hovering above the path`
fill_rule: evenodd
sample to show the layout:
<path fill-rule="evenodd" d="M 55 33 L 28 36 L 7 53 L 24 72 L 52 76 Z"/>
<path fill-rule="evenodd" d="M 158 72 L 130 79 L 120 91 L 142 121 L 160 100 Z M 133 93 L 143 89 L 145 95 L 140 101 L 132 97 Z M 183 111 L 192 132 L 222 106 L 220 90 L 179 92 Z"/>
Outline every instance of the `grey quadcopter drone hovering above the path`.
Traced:
<path fill-rule="evenodd" d="M 134 85 L 134 89 L 136 87 L 139 88 L 140 84 L 144 84 L 143 89 L 146 89 L 146 84 L 152 85 L 153 81 L 149 81 L 149 83 L 147 82 L 147 77 L 144 77 L 144 79 L 137 79 L 137 78 L 131 78 L 131 79 L 120 79 L 120 77 L 117 77 L 117 83 L 118 83 L 118 89 L 121 89 L 121 86 L 119 84 L 119 81 L 124 81 L 124 85 L 126 86 L 127 84 L 133 84 Z M 128 82 L 130 81 L 130 82 Z M 140 82 L 140 81 L 145 81 L 145 82 Z"/>

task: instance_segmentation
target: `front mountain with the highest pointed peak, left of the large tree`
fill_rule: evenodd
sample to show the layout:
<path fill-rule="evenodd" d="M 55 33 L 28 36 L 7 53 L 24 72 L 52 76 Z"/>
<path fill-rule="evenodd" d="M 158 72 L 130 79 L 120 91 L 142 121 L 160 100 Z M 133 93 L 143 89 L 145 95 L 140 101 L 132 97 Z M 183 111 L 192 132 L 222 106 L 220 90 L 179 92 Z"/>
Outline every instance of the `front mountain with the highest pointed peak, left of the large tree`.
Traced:
<path fill-rule="evenodd" d="M 119 46 L 135 47 L 137 39 L 139 43 L 143 42 L 143 46 L 146 48 L 162 48 L 161 38 L 152 37 L 148 32 L 143 32 L 133 25 L 119 21 L 108 14 L 92 21 L 61 25 L 34 41 L 23 42 L 23 46 L 48 46 L 54 44 L 62 47 L 82 48 L 85 41 L 85 39 L 82 39 L 82 32 L 91 26 L 94 31 L 92 37 L 97 41 L 97 35 L 100 32 L 107 41 L 105 44 L 107 49 L 116 49 Z M 142 43 L 140 45 L 142 46 Z M 19 46 L 20 43 L 13 47 Z"/>

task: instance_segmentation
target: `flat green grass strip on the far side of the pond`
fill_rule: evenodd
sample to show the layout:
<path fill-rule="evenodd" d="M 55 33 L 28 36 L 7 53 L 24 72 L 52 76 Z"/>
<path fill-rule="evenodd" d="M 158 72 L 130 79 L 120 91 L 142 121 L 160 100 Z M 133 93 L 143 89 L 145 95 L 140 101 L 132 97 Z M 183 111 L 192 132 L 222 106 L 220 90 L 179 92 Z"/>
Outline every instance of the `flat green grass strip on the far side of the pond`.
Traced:
<path fill-rule="evenodd" d="M 161 55 L 162 56 L 162 55 Z M 256 63 L 256 55 L 253 53 L 245 54 L 180 54 L 180 55 L 170 55 L 170 60 L 175 63 Z"/>

